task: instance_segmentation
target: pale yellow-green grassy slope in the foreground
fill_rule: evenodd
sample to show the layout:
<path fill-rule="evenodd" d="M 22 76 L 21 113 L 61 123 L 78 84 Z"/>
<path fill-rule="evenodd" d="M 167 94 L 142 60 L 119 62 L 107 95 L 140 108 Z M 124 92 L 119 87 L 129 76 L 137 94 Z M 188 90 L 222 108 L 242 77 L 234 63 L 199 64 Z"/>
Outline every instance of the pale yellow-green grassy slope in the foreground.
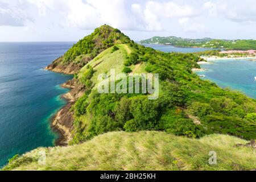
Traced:
<path fill-rule="evenodd" d="M 188 139 L 142 131 L 115 132 L 69 147 L 38 148 L 15 159 L 9 170 L 250 170 L 256 168 L 253 148 L 234 147 L 245 140 L 227 135 Z M 38 163 L 46 151 L 46 164 Z M 209 152 L 217 154 L 210 165 Z"/>

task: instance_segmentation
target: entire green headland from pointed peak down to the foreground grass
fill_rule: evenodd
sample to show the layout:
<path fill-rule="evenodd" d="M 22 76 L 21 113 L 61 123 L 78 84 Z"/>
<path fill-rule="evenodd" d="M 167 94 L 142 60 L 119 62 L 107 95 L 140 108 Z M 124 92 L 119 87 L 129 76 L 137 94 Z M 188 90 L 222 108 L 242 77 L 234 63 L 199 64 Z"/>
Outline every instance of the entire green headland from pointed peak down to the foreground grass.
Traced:
<path fill-rule="evenodd" d="M 72 88 L 68 94 L 71 101 L 56 114 L 53 123 L 65 136 L 65 143 L 78 145 L 57 147 L 59 150 L 53 151 L 46 149 L 47 155 L 49 154 L 47 166 L 36 165 L 35 159 L 30 157 L 34 151 L 22 156 L 17 162 L 11 160 L 9 167 L 197 170 L 255 168 L 252 163 L 255 162 L 255 156 L 249 155 L 251 150 L 233 146 L 236 143 L 246 143 L 245 140 L 256 139 L 256 100 L 239 92 L 222 89 L 213 82 L 201 80 L 192 72 L 192 68 L 200 68 L 198 61 L 201 58 L 193 53 L 156 51 L 134 43 L 112 27 L 105 25 L 96 28 L 91 35 L 80 40 L 63 57 L 54 61 L 54 66 L 48 67 L 54 67 L 51 69 L 53 71 L 75 73 L 73 80 L 65 84 Z M 106 73 L 109 76 L 112 68 L 116 73 L 126 73 L 129 79 L 131 72 L 158 73 L 158 99 L 148 100 L 148 92 L 98 93 L 98 75 Z M 118 84 L 120 80 L 114 81 Z M 113 131 L 129 133 L 105 134 Z M 143 132 L 137 133 L 138 131 Z M 97 135 L 101 136 L 96 137 Z M 145 146 L 143 141 L 147 141 Z M 210 148 L 220 151 L 219 166 L 205 163 Z M 138 154 L 138 151 L 141 153 Z M 56 164 L 53 159 L 57 160 Z M 5 169 L 10 169 L 9 167 Z"/>

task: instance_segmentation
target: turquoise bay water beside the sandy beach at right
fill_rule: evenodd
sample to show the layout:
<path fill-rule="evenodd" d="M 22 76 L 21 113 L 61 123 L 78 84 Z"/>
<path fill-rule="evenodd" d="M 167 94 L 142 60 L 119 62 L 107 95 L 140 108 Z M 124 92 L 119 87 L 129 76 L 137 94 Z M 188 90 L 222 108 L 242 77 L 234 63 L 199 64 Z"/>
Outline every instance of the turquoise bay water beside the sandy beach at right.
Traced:
<path fill-rule="evenodd" d="M 201 68 L 208 71 L 196 72 L 205 75 L 204 80 L 215 82 L 222 88 L 240 90 L 247 96 L 256 98 L 256 62 L 249 60 L 214 60 L 210 64 L 203 64 Z"/>

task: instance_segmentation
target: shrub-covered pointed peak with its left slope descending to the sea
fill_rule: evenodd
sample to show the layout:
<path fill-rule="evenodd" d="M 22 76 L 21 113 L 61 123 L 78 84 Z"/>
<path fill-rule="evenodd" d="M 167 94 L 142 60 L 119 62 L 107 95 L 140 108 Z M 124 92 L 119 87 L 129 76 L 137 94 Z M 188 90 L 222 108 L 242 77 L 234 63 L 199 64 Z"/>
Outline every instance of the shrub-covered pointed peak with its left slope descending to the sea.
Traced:
<path fill-rule="evenodd" d="M 117 28 L 103 25 L 73 45 L 63 56 L 59 57 L 46 69 L 67 74 L 77 73 L 86 63 L 99 53 L 115 44 L 129 43 L 131 40 Z"/>

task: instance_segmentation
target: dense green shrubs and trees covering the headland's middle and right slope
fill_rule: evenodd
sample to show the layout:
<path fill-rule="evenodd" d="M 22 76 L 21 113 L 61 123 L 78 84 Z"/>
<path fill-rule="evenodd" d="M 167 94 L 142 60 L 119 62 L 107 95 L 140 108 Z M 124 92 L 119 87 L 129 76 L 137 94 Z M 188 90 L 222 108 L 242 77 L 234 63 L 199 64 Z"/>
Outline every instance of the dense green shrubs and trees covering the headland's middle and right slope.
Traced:
<path fill-rule="evenodd" d="M 86 108 L 76 116 L 79 129 L 75 130 L 77 137 L 72 143 L 120 130 L 158 130 L 191 138 L 214 133 L 256 138 L 256 122 L 251 119 L 256 111 L 256 101 L 201 80 L 191 71 L 199 68 L 197 62 L 201 59 L 198 55 L 163 53 L 133 42 L 129 44 L 131 53 L 128 55 L 124 45 L 117 45 L 119 50 L 113 53 L 113 48 L 106 49 L 88 64 L 96 70 L 92 76 L 93 84 L 97 85 L 98 74 L 108 73 L 110 68 L 118 68 L 117 72 L 121 73 L 126 72 L 125 65 L 129 73 L 141 63 L 143 71 L 159 73 L 158 100 L 148 100 L 147 94 L 99 94 L 92 89 L 86 93 L 85 103 L 74 107 L 75 113 L 79 113 L 81 105 Z M 122 59 L 115 61 L 113 56 Z M 81 69 L 80 78 L 86 70 Z M 199 123 L 194 123 L 191 115 L 198 118 Z"/>

